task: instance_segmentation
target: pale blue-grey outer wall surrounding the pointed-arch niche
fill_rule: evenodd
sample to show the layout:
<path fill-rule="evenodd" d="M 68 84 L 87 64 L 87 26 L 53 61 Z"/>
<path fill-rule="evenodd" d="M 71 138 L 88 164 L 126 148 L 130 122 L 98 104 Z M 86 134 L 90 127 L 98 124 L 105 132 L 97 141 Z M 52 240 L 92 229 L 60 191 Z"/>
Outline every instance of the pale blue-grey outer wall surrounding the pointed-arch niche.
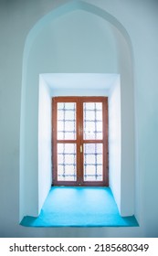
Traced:
<path fill-rule="evenodd" d="M 0 2 L 0 236 L 157 237 L 158 77 L 156 69 L 158 67 L 158 3 L 154 0 L 84 1 L 100 6 L 101 9 L 116 17 L 132 39 L 134 109 L 136 116 L 135 210 L 141 226 L 139 228 L 121 229 L 26 229 L 18 225 L 19 178 L 21 178 L 19 177 L 19 134 L 23 49 L 27 33 L 36 24 L 37 20 L 58 5 L 66 2 L 68 1 L 15 0 L 8 2 L 2 0 Z M 96 70 L 93 69 L 92 72 L 94 71 Z M 24 184 L 25 180 L 21 185 Z"/>

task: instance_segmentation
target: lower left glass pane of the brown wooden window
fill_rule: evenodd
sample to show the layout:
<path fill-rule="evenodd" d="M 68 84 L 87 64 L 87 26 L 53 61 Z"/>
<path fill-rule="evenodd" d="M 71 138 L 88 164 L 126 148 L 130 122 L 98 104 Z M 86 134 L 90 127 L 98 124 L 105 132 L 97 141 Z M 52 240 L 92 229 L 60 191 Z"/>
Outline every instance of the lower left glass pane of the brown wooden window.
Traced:
<path fill-rule="evenodd" d="M 58 144 L 58 181 L 76 180 L 76 144 Z"/>

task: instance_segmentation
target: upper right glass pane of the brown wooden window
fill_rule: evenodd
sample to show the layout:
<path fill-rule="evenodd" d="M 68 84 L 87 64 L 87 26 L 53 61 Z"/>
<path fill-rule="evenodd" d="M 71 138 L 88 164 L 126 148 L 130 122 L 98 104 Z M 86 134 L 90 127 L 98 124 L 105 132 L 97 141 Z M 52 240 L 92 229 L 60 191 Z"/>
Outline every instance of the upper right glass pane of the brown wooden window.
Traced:
<path fill-rule="evenodd" d="M 102 103 L 83 103 L 84 140 L 102 140 Z"/>

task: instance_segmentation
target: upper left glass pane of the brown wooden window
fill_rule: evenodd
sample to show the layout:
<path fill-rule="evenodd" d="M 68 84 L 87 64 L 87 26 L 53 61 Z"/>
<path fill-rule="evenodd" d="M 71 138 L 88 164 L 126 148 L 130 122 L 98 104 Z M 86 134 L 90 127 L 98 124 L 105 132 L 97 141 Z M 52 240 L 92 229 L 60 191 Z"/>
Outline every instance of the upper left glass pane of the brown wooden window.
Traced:
<path fill-rule="evenodd" d="M 76 103 L 58 102 L 58 140 L 76 140 Z"/>

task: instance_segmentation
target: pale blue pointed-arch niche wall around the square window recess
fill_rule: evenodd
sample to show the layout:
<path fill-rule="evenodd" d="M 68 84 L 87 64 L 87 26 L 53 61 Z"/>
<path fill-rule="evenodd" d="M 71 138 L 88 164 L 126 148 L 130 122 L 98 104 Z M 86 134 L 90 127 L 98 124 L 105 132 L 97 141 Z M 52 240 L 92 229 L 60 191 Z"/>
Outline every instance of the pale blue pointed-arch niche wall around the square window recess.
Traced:
<path fill-rule="evenodd" d="M 39 174 L 38 111 L 41 73 L 120 74 L 120 189 L 116 191 L 112 184 L 115 181 L 112 180 L 111 188 L 121 215 L 132 215 L 134 119 L 130 37 L 119 21 L 106 11 L 82 1 L 72 1 L 39 20 L 26 38 L 21 103 L 20 219 L 26 215 L 38 215 L 50 186 L 49 179 L 47 188 L 40 185 Z M 47 88 L 46 91 L 48 90 Z M 113 140 L 112 136 L 111 139 Z M 47 144 L 50 144 L 50 140 L 49 136 Z M 111 173 L 115 167 L 110 152 Z M 48 169 L 47 176 L 50 176 Z M 42 189 L 45 191 L 41 199 Z"/>

